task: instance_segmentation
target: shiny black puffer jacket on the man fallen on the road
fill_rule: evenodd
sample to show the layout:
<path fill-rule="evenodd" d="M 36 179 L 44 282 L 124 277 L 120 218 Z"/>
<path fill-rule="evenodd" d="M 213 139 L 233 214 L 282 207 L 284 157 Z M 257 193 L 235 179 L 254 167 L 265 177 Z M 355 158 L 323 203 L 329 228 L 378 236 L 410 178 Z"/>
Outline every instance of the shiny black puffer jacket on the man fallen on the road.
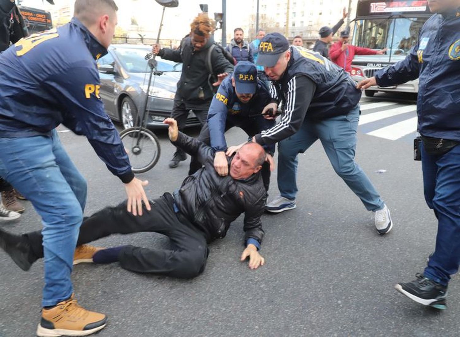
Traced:
<path fill-rule="evenodd" d="M 179 132 L 173 144 L 188 154 L 197 156 L 204 167 L 185 178 L 174 191 L 179 211 L 206 233 L 207 241 L 221 239 L 230 223 L 244 212 L 244 242 L 249 238 L 262 241 L 264 230 L 260 217 L 264 213 L 266 192 L 260 172 L 245 180 L 230 175 L 221 177 L 214 169 L 214 150 Z M 233 157 L 230 157 L 230 162 Z"/>

